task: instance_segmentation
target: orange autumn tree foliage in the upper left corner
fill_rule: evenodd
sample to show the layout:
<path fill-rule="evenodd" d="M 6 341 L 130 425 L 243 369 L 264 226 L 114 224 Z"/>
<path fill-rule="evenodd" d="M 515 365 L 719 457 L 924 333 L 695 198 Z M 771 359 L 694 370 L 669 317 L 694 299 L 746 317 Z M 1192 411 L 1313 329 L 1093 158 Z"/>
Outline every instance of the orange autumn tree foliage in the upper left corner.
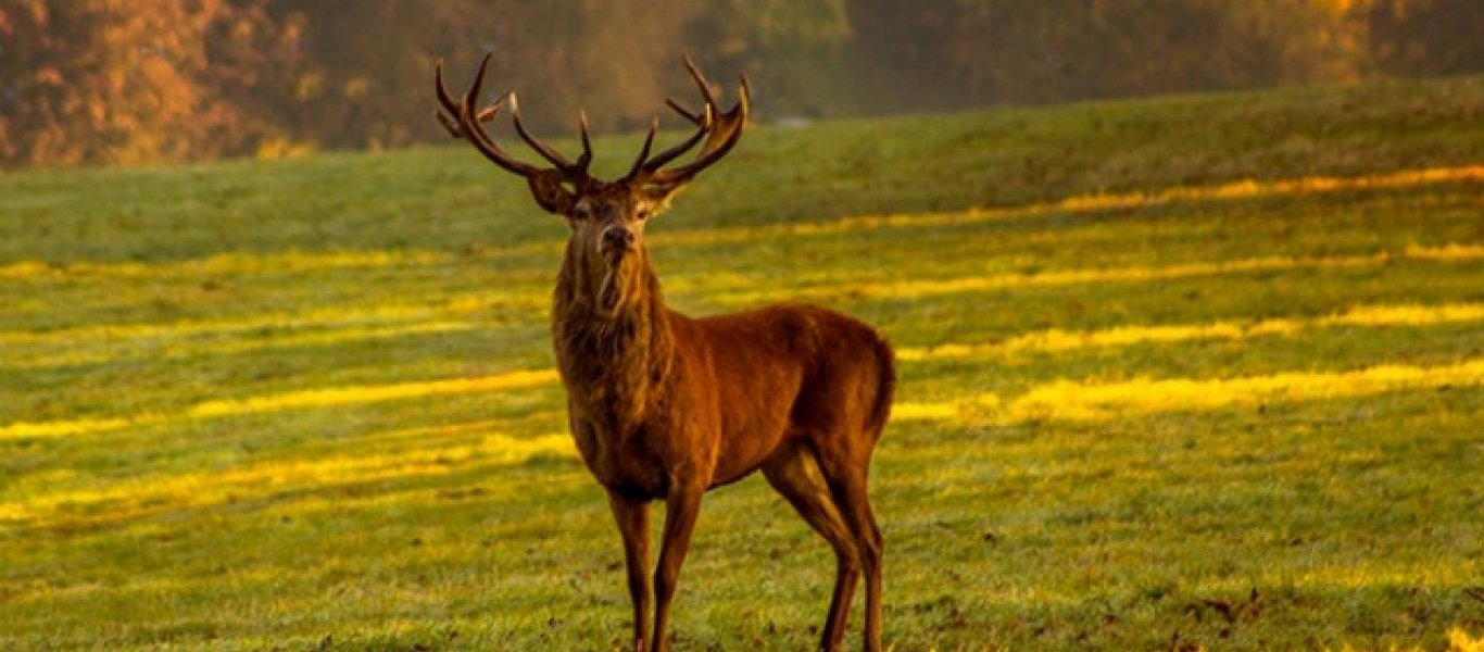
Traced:
<path fill-rule="evenodd" d="M 0 163 L 184 160 L 270 129 L 292 31 L 227 0 L 0 0 Z"/>

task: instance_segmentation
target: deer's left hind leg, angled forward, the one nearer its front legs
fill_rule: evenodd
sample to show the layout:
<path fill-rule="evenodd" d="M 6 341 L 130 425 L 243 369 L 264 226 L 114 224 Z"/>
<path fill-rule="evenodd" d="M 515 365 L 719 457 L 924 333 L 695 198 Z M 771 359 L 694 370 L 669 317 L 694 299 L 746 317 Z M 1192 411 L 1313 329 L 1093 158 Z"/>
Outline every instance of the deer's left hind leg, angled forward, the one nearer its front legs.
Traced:
<path fill-rule="evenodd" d="M 763 465 L 767 483 L 788 499 L 789 505 L 804 517 L 819 536 L 835 552 L 835 588 L 830 599 L 830 613 L 825 616 L 819 646 L 837 651 L 844 640 L 846 619 L 850 613 L 850 599 L 861 578 L 861 554 L 856 538 L 846 524 L 834 502 L 830 483 L 819 468 L 813 450 L 804 444 L 785 444 Z"/>

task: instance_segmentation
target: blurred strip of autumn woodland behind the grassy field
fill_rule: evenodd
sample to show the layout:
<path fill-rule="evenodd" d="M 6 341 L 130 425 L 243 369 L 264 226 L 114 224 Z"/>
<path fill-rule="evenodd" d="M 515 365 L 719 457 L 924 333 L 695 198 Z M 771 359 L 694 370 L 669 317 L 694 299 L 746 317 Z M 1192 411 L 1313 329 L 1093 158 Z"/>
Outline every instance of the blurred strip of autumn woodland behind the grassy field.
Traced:
<path fill-rule="evenodd" d="M 0 0 L 0 168 L 445 140 L 487 50 L 558 135 L 695 104 L 681 50 L 788 123 L 1477 71 L 1484 1 Z"/>

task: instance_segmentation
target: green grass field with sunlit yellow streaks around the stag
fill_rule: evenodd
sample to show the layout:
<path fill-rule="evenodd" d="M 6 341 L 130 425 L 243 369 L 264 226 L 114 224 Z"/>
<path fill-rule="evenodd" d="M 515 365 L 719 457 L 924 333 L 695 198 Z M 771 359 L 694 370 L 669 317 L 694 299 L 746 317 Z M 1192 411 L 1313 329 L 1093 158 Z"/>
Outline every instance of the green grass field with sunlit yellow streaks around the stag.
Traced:
<path fill-rule="evenodd" d="M 0 649 L 626 637 L 551 370 L 565 227 L 516 180 L 448 147 L 0 201 Z M 898 651 L 1484 645 L 1481 77 L 758 128 L 649 241 L 681 310 L 898 346 Z M 718 490 L 675 648 L 806 649 L 831 576 Z"/>

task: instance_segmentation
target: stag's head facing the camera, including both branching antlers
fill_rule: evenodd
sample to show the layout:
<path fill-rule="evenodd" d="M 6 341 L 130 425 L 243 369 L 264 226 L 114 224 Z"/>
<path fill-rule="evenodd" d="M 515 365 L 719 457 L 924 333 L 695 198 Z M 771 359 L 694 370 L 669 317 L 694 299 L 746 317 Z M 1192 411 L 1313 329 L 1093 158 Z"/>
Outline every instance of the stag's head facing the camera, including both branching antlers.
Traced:
<path fill-rule="evenodd" d="M 646 221 L 663 211 L 669 199 L 700 171 L 732 151 L 746 126 L 746 77 L 741 80 L 736 105 L 723 113 L 717 107 L 711 85 L 696 68 L 695 61 L 690 56 L 684 61 L 705 104 L 699 111 L 686 110 L 672 100 L 666 100 L 666 104 L 696 126 L 695 134 L 668 150 L 651 154 L 654 134 L 659 131 L 656 119 L 629 172 L 614 181 L 603 181 L 588 174 L 588 166 L 592 163 L 592 143 L 586 116 L 579 116 L 582 156 L 573 162 L 525 129 L 519 101 L 513 92 L 484 108 L 476 107 L 490 55 L 485 55 L 473 83 L 457 102 L 444 85 L 442 62 L 438 64 L 435 74 L 438 101 L 447 111 L 447 114 L 438 111 L 438 120 L 450 135 L 467 140 L 499 168 L 524 177 L 536 203 L 567 220 L 571 227 L 567 239 L 567 266 L 580 276 L 579 282 L 588 285 L 585 290 L 595 299 L 600 312 L 616 312 L 635 293 L 635 285 L 643 282 L 638 272 L 647 269 Z M 530 165 L 509 156 L 485 132 L 482 123 L 494 119 L 506 102 L 510 105 L 516 134 L 551 166 Z M 695 159 L 666 168 L 702 141 L 705 144 Z"/>

